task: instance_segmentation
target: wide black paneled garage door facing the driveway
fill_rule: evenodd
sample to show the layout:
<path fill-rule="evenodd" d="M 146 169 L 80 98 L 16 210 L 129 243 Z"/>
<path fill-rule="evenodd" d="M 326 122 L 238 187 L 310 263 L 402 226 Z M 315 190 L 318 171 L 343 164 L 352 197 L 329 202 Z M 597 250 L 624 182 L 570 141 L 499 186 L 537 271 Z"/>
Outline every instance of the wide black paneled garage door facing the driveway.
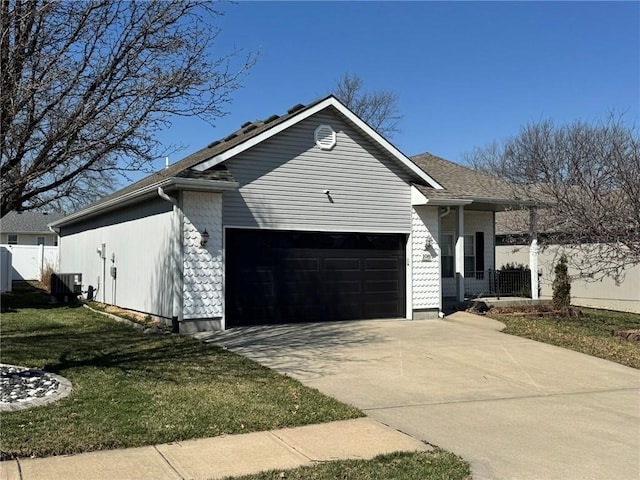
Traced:
<path fill-rule="evenodd" d="M 405 315 L 398 234 L 227 229 L 227 326 Z"/>

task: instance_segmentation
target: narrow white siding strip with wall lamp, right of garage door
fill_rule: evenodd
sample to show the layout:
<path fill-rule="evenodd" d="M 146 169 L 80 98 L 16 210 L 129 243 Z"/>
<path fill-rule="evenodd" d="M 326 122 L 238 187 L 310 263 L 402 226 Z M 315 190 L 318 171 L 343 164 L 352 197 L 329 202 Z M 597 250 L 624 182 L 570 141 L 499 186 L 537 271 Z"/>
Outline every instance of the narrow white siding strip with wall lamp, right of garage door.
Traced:
<path fill-rule="evenodd" d="M 440 246 L 438 209 L 413 209 L 412 265 L 413 308 L 440 309 Z M 431 246 L 425 250 L 426 243 Z M 425 254 L 428 256 L 425 258 Z"/>

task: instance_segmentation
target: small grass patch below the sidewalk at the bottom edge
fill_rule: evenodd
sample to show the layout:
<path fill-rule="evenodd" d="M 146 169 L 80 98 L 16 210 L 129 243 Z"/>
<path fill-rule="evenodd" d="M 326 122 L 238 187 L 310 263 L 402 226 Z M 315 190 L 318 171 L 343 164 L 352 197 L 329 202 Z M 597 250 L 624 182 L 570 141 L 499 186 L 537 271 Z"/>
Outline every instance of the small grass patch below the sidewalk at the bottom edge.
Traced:
<path fill-rule="evenodd" d="M 344 460 L 271 470 L 234 480 L 464 480 L 471 478 L 469 464 L 444 450 L 399 452 L 372 460 Z M 228 477 L 227 480 L 230 480 Z"/>

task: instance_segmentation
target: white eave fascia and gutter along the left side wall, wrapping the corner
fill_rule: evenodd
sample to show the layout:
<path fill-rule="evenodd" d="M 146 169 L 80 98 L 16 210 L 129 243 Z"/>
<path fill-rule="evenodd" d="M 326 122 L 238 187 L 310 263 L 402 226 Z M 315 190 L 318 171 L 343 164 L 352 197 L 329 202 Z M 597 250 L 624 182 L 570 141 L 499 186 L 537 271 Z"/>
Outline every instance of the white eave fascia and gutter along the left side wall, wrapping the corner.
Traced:
<path fill-rule="evenodd" d="M 208 186 L 208 188 L 206 188 Z M 107 202 L 100 203 L 87 207 L 84 210 L 79 210 L 71 215 L 68 215 L 60 220 L 49 223 L 47 226 L 52 229 L 59 229 L 60 227 L 75 223 L 76 221 L 83 220 L 98 215 L 101 212 L 113 210 L 114 208 L 125 206 L 130 203 L 138 202 L 147 197 L 153 197 L 158 193 L 158 187 L 166 191 L 172 190 L 199 190 L 199 191 L 213 191 L 221 192 L 225 190 L 233 190 L 237 188 L 239 184 L 237 182 L 225 182 L 220 180 L 199 180 L 193 178 L 179 178 L 170 177 L 160 180 L 158 182 L 147 185 L 138 190 L 134 190 L 125 195 L 113 198 Z"/>

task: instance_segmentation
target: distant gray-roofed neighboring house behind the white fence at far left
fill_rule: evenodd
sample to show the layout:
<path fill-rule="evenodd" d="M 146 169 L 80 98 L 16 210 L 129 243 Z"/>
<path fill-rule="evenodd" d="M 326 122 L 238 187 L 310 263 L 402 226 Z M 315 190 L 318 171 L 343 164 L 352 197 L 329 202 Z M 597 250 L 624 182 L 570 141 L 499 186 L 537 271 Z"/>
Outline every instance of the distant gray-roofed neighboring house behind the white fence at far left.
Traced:
<path fill-rule="evenodd" d="M 47 226 L 62 218 L 60 213 L 9 212 L 0 219 L 0 243 L 6 245 L 58 245 L 58 235 Z"/>

